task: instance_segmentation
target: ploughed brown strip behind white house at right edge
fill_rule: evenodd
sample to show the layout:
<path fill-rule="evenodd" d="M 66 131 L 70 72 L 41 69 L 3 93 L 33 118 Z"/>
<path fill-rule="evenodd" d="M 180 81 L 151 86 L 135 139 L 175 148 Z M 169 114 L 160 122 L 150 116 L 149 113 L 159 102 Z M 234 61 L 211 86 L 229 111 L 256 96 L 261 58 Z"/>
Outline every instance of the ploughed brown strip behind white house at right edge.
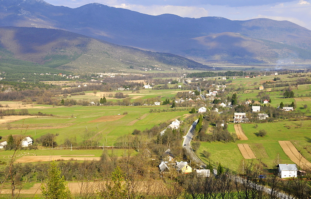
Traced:
<path fill-rule="evenodd" d="M 295 162 L 297 166 L 302 169 L 310 169 L 311 163 L 304 158 L 295 146 L 290 141 L 279 141 L 283 151 L 290 158 L 291 161 Z"/>

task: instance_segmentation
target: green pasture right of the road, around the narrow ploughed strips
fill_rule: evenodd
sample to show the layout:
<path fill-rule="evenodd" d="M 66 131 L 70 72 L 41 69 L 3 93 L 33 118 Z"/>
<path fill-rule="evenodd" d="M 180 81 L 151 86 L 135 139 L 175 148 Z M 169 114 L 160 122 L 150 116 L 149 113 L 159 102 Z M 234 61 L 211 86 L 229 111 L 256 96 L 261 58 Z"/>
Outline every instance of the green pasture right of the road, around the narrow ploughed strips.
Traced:
<path fill-rule="evenodd" d="M 293 163 L 278 143 L 279 140 L 289 140 L 308 161 L 311 161 L 311 120 L 261 123 L 258 124 L 258 128 L 255 128 L 254 124 L 247 123 L 241 124 L 241 126 L 248 140 L 237 140 L 236 142 L 230 143 L 201 143 L 197 155 L 207 164 L 210 161 L 216 167 L 220 162 L 223 166 L 236 170 L 244 159 L 239 152 L 237 144 L 246 143 L 249 144 L 257 157 L 257 160 L 253 160 L 255 163 L 260 160 L 268 168 L 274 168 L 274 160 L 277 154 L 279 154 L 281 163 Z M 267 130 L 265 137 L 256 136 L 256 133 L 260 129 Z M 229 132 L 234 132 L 233 124 L 228 125 L 228 130 Z M 203 157 L 203 150 L 211 153 L 210 160 Z"/>

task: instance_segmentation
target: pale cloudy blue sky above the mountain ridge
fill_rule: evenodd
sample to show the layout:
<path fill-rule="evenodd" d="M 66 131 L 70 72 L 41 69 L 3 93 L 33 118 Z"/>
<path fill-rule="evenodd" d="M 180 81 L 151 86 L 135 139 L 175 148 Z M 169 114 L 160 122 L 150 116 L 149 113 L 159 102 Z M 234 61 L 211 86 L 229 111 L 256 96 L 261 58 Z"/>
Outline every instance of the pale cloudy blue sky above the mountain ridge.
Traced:
<path fill-rule="evenodd" d="M 269 18 L 288 20 L 311 30 L 311 0 L 45 0 L 54 6 L 76 8 L 101 3 L 148 15 L 225 17 L 230 20 Z"/>

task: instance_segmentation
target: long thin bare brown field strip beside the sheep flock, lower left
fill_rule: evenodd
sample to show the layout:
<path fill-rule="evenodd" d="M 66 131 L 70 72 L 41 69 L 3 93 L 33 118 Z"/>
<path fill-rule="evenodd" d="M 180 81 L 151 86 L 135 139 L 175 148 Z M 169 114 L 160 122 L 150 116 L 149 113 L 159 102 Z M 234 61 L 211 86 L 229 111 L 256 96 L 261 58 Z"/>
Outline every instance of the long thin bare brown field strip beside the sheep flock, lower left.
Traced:
<path fill-rule="evenodd" d="M 91 155 L 87 155 L 91 156 Z M 16 163 L 24 163 L 24 162 L 47 162 L 47 161 L 53 161 L 53 160 L 100 160 L 100 157 L 63 157 L 63 155 L 55 155 L 55 156 L 23 156 L 19 159 L 17 159 Z"/>

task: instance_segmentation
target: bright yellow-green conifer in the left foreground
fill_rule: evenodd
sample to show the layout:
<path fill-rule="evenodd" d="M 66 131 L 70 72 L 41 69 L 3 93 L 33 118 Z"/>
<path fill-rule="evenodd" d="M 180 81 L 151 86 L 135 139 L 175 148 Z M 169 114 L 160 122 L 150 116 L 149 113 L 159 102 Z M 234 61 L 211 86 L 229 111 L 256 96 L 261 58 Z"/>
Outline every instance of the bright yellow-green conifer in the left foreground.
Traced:
<path fill-rule="evenodd" d="M 60 169 L 54 161 L 51 162 L 47 181 L 40 187 L 42 195 L 45 198 L 70 198 L 70 190 L 66 185 L 65 177 L 61 176 Z"/>

